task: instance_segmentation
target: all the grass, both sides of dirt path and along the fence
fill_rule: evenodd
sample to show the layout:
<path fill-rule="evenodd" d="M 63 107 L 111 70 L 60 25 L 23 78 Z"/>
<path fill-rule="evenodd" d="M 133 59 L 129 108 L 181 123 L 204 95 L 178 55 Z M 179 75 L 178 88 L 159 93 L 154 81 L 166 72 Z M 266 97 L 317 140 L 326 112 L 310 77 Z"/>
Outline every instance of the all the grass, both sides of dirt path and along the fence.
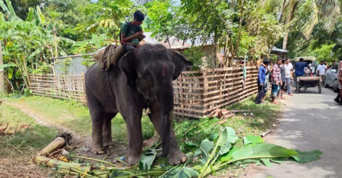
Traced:
<path fill-rule="evenodd" d="M 213 132 L 219 132 L 222 127 L 232 127 L 237 132 L 239 137 L 246 135 L 260 135 L 261 132 L 271 128 L 274 120 L 279 118 L 281 112 L 280 105 L 273 105 L 266 101 L 265 104 L 254 104 L 255 96 L 244 100 L 242 103 L 236 103 L 227 107 L 227 110 L 251 110 L 247 116 L 243 112 L 237 112 L 227 122 L 219 125 L 218 118 L 203 118 L 203 119 L 188 119 L 175 118 L 173 127 L 177 135 L 180 148 L 183 152 L 188 152 L 185 146 L 186 141 L 200 144 L 205 138 L 209 138 Z M 88 108 L 79 103 L 68 100 L 59 100 L 53 98 L 45 98 L 40 96 L 22 96 L 8 97 L 6 102 L 20 103 L 26 108 L 38 112 L 58 125 L 69 127 L 71 130 L 78 132 L 80 135 L 91 134 L 91 122 Z M 0 137 L 0 157 L 3 155 L 13 155 L 14 152 L 23 152 L 23 155 L 28 155 L 35 150 L 41 150 L 44 146 L 53 140 L 56 135 L 56 130 L 48 127 L 42 127 L 36 124 L 33 118 L 28 117 L 23 112 L 16 108 L 11 108 L 8 105 L 1 105 L 1 120 L 4 124 L 9 122 L 12 128 L 18 125 L 31 125 L 24 132 L 18 132 L 13 136 Z M 253 113 L 253 116 L 250 113 Z M 117 142 L 127 144 L 127 129 L 125 120 L 121 115 L 117 115 L 112 121 L 113 139 Z M 142 117 L 142 133 L 144 139 L 148 139 L 155 134 L 155 129 L 146 115 Z M 237 147 L 243 145 L 242 139 L 237 142 Z M 32 154 L 31 154 L 32 155 Z M 27 156 L 27 155 L 26 155 Z M 157 164 L 167 164 L 166 158 L 157 160 Z"/>

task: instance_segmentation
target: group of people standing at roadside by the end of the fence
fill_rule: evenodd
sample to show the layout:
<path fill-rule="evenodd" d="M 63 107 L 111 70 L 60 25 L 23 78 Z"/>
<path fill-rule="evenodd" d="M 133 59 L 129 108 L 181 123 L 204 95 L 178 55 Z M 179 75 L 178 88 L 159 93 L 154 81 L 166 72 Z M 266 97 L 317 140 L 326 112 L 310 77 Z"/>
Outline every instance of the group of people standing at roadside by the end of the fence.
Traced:
<path fill-rule="evenodd" d="M 255 103 L 263 103 L 266 92 L 271 83 L 271 100 L 276 103 L 276 97 L 284 99 L 284 94 L 291 94 L 291 82 L 294 79 L 294 67 L 290 63 L 290 59 L 278 59 L 274 65 L 270 65 L 271 61 L 264 59 L 258 72 L 258 95 Z"/>

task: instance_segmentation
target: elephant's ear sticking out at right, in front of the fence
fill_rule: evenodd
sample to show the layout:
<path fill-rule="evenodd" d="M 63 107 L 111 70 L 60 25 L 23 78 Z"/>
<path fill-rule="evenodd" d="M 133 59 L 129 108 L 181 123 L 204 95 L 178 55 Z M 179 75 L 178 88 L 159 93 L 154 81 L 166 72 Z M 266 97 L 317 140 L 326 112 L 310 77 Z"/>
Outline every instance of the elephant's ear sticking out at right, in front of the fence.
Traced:
<path fill-rule="evenodd" d="M 192 67 L 192 62 L 176 51 L 171 51 L 171 58 L 172 63 L 175 64 L 175 72 L 173 73 L 172 80 L 176 80 L 182 71 L 190 70 Z"/>

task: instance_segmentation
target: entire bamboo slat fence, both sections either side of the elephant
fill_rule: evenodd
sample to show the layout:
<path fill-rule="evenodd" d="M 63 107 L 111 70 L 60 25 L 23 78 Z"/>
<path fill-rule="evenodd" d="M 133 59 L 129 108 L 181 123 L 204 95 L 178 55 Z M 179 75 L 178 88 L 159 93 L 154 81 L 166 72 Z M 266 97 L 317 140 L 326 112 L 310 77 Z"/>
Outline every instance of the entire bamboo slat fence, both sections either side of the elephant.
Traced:
<path fill-rule="evenodd" d="M 202 118 L 257 93 L 257 66 L 185 71 L 173 81 L 174 114 Z M 30 75 L 33 95 L 87 102 L 84 75 Z"/>

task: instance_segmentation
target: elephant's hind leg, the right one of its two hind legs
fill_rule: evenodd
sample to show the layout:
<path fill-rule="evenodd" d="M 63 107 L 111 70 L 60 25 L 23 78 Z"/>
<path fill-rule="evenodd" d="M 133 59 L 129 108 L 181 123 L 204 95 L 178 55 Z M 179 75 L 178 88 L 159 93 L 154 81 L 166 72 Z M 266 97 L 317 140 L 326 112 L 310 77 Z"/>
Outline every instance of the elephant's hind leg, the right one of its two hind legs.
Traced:
<path fill-rule="evenodd" d="M 104 113 L 103 114 L 103 147 L 112 148 L 114 146 L 113 138 L 112 138 L 112 119 L 115 117 L 116 113 Z"/>

